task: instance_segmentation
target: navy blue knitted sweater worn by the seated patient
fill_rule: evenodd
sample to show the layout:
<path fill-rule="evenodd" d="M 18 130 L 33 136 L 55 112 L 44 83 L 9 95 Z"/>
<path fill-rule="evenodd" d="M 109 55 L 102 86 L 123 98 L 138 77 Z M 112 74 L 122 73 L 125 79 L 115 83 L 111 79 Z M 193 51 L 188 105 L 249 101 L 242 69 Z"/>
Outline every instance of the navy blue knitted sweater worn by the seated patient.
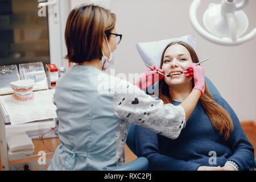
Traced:
<path fill-rule="evenodd" d="M 228 102 L 213 96 L 233 120 L 233 131 L 225 140 L 215 130 L 203 107 L 197 103 L 186 126 L 175 140 L 142 126 L 135 127 L 137 152 L 149 161 L 150 170 L 196 170 L 199 166 L 221 166 L 232 160 L 240 170 L 254 169 L 254 148 L 246 138 L 240 121 Z M 174 101 L 174 105 L 180 102 Z M 216 156 L 216 158 L 214 158 Z"/>

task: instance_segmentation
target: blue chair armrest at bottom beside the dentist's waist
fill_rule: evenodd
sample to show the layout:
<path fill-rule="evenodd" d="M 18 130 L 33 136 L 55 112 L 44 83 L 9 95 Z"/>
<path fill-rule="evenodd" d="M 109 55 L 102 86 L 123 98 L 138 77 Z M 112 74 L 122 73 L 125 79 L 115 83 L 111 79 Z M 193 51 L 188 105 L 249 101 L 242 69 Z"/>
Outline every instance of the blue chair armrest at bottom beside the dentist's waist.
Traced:
<path fill-rule="evenodd" d="M 118 166 L 108 169 L 109 171 L 147 171 L 148 160 L 144 157 L 139 157 L 132 162 L 123 166 Z"/>

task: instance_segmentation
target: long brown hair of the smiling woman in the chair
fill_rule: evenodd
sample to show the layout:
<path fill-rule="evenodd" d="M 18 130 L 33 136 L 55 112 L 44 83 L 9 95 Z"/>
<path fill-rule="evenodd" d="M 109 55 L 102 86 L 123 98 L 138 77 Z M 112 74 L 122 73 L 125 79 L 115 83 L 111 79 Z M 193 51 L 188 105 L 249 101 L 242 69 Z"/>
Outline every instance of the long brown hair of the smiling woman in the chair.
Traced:
<path fill-rule="evenodd" d="M 196 52 L 189 44 L 185 42 L 173 42 L 168 44 L 167 47 L 164 49 L 161 58 L 160 68 L 162 68 L 163 66 L 163 57 L 166 49 L 174 44 L 180 44 L 181 46 L 187 48 L 193 63 L 199 63 Z M 192 79 L 192 86 L 194 86 L 193 83 L 194 82 Z M 164 104 L 172 103 L 169 86 L 166 84 L 164 79 L 159 82 L 159 98 L 164 102 Z M 230 118 L 228 112 L 214 101 L 206 83 L 204 95 L 199 99 L 199 103 L 204 108 L 205 114 L 208 115 L 214 129 L 219 130 L 220 134 L 223 135 L 226 140 L 228 140 L 233 129 L 232 119 Z"/>

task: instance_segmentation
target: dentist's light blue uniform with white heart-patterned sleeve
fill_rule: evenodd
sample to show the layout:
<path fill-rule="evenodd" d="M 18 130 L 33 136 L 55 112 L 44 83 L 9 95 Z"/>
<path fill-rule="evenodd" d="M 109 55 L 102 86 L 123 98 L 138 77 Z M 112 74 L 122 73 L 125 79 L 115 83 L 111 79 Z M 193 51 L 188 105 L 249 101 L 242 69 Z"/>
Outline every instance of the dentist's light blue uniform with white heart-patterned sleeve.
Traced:
<path fill-rule="evenodd" d="M 57 81 L 59 139 L 48 170 L 101 170 L 125 162 L 130 123 L 175 139 L 185 127 L 183 107 L 164 105 L 130 82 L 88 65 Z"/>

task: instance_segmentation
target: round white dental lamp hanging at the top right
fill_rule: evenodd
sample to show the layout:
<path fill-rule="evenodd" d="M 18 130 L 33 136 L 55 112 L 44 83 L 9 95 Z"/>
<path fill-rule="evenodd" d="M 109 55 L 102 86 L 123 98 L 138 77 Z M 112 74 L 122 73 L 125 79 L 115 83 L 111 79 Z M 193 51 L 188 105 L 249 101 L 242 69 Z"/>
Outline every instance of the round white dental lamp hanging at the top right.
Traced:
<path fill-rule="evenodd" d="M 235 0 L 222 0 L 220 4 L 210 3 L 203 16 L 206 31 L 196 17 L 201 0 L 194 0 L 189 10 L 192 26 L 205 39 L 217 44 L 237 46 L 245 43 L 256 36 L 256 28 L 242 36 L 249 26 L 247 16 L 242 11 L 248 2 L 249 0 L 242 0 L 237 4 Z"/>

